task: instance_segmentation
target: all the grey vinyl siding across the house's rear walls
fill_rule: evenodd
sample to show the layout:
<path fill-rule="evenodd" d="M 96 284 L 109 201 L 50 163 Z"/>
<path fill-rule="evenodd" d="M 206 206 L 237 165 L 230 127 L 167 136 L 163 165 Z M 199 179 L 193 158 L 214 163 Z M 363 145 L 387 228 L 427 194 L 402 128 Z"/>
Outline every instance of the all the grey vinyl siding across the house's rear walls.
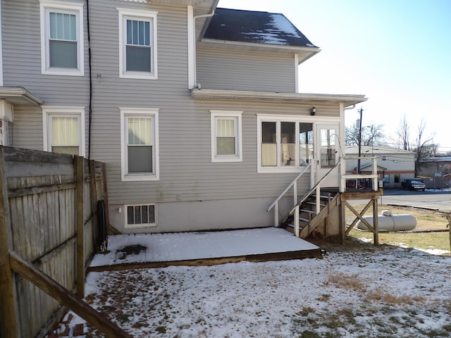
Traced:
<path fill-rule="evenodd" d="M 186 201 L 193 204 L 200 203 L 199 201 L 218 201 L 209 206 L 221 208 L 221 200 L 236 199 L 249 200 L 249 205 L 253 205 L 252 210 L 266 210 L 267 202 L 278 196 L 296 174 L 257 174 L 257 114 L 309 116 L 311 105 L 194 101 L 187 88 L 186 6 L 165 7 L 109 0 L 90 1 L 89 4 L 93 73 L 91 158 L 106 163 L 113 225 L 123 227 L 123 214 L 118 215 L 117 210 L 125 204 L 169 205 Z M 158 12 L 158 80 L 119 77 L 116 7 Z M 87 46 L 85 45 L 85 77 L 42 75 L 39 1 L 3 0 L 2 20 L 4 84 L 25 87 L 42 99 L 45 106 L 84 106 L 88 142 Z M 86 42 L 85 33 L 85 44 Z M 199 54 L 197 70 L 202 87 L 294 92 L 294 57 L 289 54 L 273 56 L 243 51 L 212 54 L 211 51 L 201 51 Z M 212 56 L 211 59 L 209 56 Z M 211 75 L 206 77 L 207 73 Z M 97 79 L 96 74 L 101 74 L 101 79 Z M 230 80 L 224 81 L 226 75 L 230 76 Z M 121 182 L 119 107 L 159 109 L 160 180 Z M 42 149 L 41 108 L 14 108 L 13 146 Z M 211 163 L 210 110 L 243 111 L 242 162 Z M 338 117 L 338 104 L 316 105 L 316 115 Z M 302 177 L 298 185 L 298 194 L 301 195 L 309 187 L 309 175 Z M 256 205 L 257 200 L 262 201 L 259 206 Z M 233 206 L 233 203 L 229 205 Z M 170 229 L 165 228 L 165 217 L 164 213 L 159 213 L 161 226 L 155 231 Z M 264 218 L 272 218 L 272 214 L 265 213 Z M 193 227 L 187 218 L 187 225 L 183 229 L 192 230 Z"/>

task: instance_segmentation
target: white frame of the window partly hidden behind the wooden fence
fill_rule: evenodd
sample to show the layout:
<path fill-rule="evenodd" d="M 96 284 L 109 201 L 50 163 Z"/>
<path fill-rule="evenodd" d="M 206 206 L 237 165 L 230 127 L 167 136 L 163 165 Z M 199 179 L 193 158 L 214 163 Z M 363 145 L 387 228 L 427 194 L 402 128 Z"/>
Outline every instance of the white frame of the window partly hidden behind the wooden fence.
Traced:
<path fill-rule="evenodd" d="M 85 107 L 42 106 L 44 151 L 51 151 L 51 118 L 60 116 L 78 118 L 78 156 L 85 156 Z"/>

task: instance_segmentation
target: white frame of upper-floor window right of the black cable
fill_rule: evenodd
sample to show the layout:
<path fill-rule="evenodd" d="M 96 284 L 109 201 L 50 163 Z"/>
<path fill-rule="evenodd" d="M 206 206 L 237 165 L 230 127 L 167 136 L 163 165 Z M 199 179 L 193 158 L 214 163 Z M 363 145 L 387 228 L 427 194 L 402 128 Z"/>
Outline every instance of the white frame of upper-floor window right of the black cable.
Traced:
<path fill-rule="evenodd" d="M 157 39 L 156 39 L 156 11 L 143 11 L 134 10 L 130 8 L 116 8 L 119 14 L 119 77 L 129 78 L 129 79 L 145 79 L 145 80 L 158 80 L 158 50 L 157 50 Z M 127 25 L 125 25 L 125 20 L 149 20 L 151 21 L 151 61 L 150 68 L 151 72 L 138 72 L 138 71 L 127 71 L 125 68 L 125 37 Z"/>

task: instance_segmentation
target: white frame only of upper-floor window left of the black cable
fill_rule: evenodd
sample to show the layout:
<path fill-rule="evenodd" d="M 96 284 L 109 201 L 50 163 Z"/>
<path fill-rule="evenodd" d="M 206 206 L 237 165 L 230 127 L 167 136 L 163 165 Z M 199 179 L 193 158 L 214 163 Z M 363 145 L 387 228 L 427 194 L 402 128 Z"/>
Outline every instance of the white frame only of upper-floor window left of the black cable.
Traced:
<path fill-rule="evenodd" d="M 83 4 L 39 0 L 41 14 L 41 73 L 45 75 L 85 76 L 85 36 L 83 31 Z M 77 64 L 78 68 L 50 67 L 49 58 L 49 12 L 77 15 Z"/>

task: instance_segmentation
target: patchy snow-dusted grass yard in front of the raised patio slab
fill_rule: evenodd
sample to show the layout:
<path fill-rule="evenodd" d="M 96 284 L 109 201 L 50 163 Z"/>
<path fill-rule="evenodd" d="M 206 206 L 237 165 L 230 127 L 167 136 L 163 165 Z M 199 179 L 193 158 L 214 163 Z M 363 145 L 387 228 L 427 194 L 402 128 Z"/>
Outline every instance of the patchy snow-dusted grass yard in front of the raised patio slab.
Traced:
<path fill-rule="evenodd" d="M 414 249 L 89 273 L 86 294 L 132 337 L 451 337 L 451 258 Z"/>

